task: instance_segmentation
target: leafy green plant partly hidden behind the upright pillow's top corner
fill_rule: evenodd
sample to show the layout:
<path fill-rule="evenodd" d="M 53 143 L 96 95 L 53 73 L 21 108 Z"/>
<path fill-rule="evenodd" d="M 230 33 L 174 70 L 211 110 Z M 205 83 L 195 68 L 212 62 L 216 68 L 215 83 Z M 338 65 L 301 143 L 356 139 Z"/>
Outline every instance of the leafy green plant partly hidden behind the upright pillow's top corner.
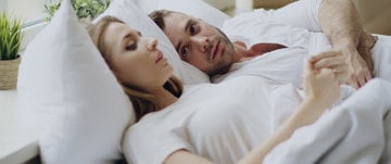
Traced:
<path fill-rule="evenodd" d="M 46 21 L 50 21 L 54 12 L 60 8 L 60 1 L 51 0 L 45 5 Z M 110 0 L 72 0 L 72 5 L 79 20 L 92 20 L 110 5 Z"/>

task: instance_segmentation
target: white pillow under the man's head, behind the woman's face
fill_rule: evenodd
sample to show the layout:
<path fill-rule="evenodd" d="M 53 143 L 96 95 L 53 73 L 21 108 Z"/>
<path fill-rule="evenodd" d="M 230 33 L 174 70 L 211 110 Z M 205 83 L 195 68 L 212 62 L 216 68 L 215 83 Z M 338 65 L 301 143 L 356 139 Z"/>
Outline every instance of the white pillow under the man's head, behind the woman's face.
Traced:
<path fill-rule="evenodd" d="M 94 22 L 104 15 L 118 17 L 133 28 L 140 30 L 143 36 L 156 38 L 159 40 L 157 48 L 163 51 L 168 62 L 173 65 L 174 74 L 185 84 L 211 83 L 206 74 L 179 59 L 174 46 L 157 25 L 148 17 L 147 13 L 156 9 L 180 11 L 203 18 L 217 27 L 220 27 L 223 21 L 229 18 L 229 16 L 201 0 L 159 0 L 152 4 L 149 2 L 150 0 L 115 0 Z"/>

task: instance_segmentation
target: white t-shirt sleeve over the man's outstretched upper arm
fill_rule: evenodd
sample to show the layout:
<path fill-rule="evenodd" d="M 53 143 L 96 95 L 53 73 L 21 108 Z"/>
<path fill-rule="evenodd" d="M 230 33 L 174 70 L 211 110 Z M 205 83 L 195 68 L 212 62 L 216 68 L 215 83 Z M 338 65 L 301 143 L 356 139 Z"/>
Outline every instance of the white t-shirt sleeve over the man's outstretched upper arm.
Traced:
<path fill-rule="evenodd" d="M 308 49 L 312 33 L 319 33 L 321 0 L 300 0 L 278 10 L 258 9 L 225 21 L 222 30 L 248 48 L 260 42 Z M 327 40 L 327 39 L 326 39 Z"/>

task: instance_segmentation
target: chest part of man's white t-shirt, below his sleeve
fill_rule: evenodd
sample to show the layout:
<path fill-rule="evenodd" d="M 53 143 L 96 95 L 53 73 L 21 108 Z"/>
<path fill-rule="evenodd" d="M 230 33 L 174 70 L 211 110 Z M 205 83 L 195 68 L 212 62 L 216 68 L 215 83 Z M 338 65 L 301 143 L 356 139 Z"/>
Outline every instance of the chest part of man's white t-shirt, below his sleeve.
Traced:
<path fill-rule="evenodd" d="M 307 56 L 307 51 L 300 47 L 275 50 L 249 61 L 235 63 L 228 73 L 214 76 L 212 81 L 220 83 L 238 76 L 253 75 L 272 84 L 292 84 L 301 88 L 303 64 Z"/>

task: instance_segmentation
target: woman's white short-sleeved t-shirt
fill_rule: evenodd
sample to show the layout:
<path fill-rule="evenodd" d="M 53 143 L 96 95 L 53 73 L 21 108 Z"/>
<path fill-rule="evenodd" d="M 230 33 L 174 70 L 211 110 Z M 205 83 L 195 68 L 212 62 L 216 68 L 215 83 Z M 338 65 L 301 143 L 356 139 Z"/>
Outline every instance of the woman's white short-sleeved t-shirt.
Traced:
<path fill-rule="evenodd" d="M 126 157 L 133 164 L 161 164 L 173 152 L 186 149 L 215 163 L 235 163 L 299 104 L 299 97 L 291 98 L 298 96 L 293 86 L 282 87 L 292 96 L 281 96 L 286 91 L 280 88 L 257 76 L 187 88 L 176 103 L 130 127 L 125 137 Z M 288 109 L 285 115 L 274 111 L 281 110 L 281 104 Z"/>

